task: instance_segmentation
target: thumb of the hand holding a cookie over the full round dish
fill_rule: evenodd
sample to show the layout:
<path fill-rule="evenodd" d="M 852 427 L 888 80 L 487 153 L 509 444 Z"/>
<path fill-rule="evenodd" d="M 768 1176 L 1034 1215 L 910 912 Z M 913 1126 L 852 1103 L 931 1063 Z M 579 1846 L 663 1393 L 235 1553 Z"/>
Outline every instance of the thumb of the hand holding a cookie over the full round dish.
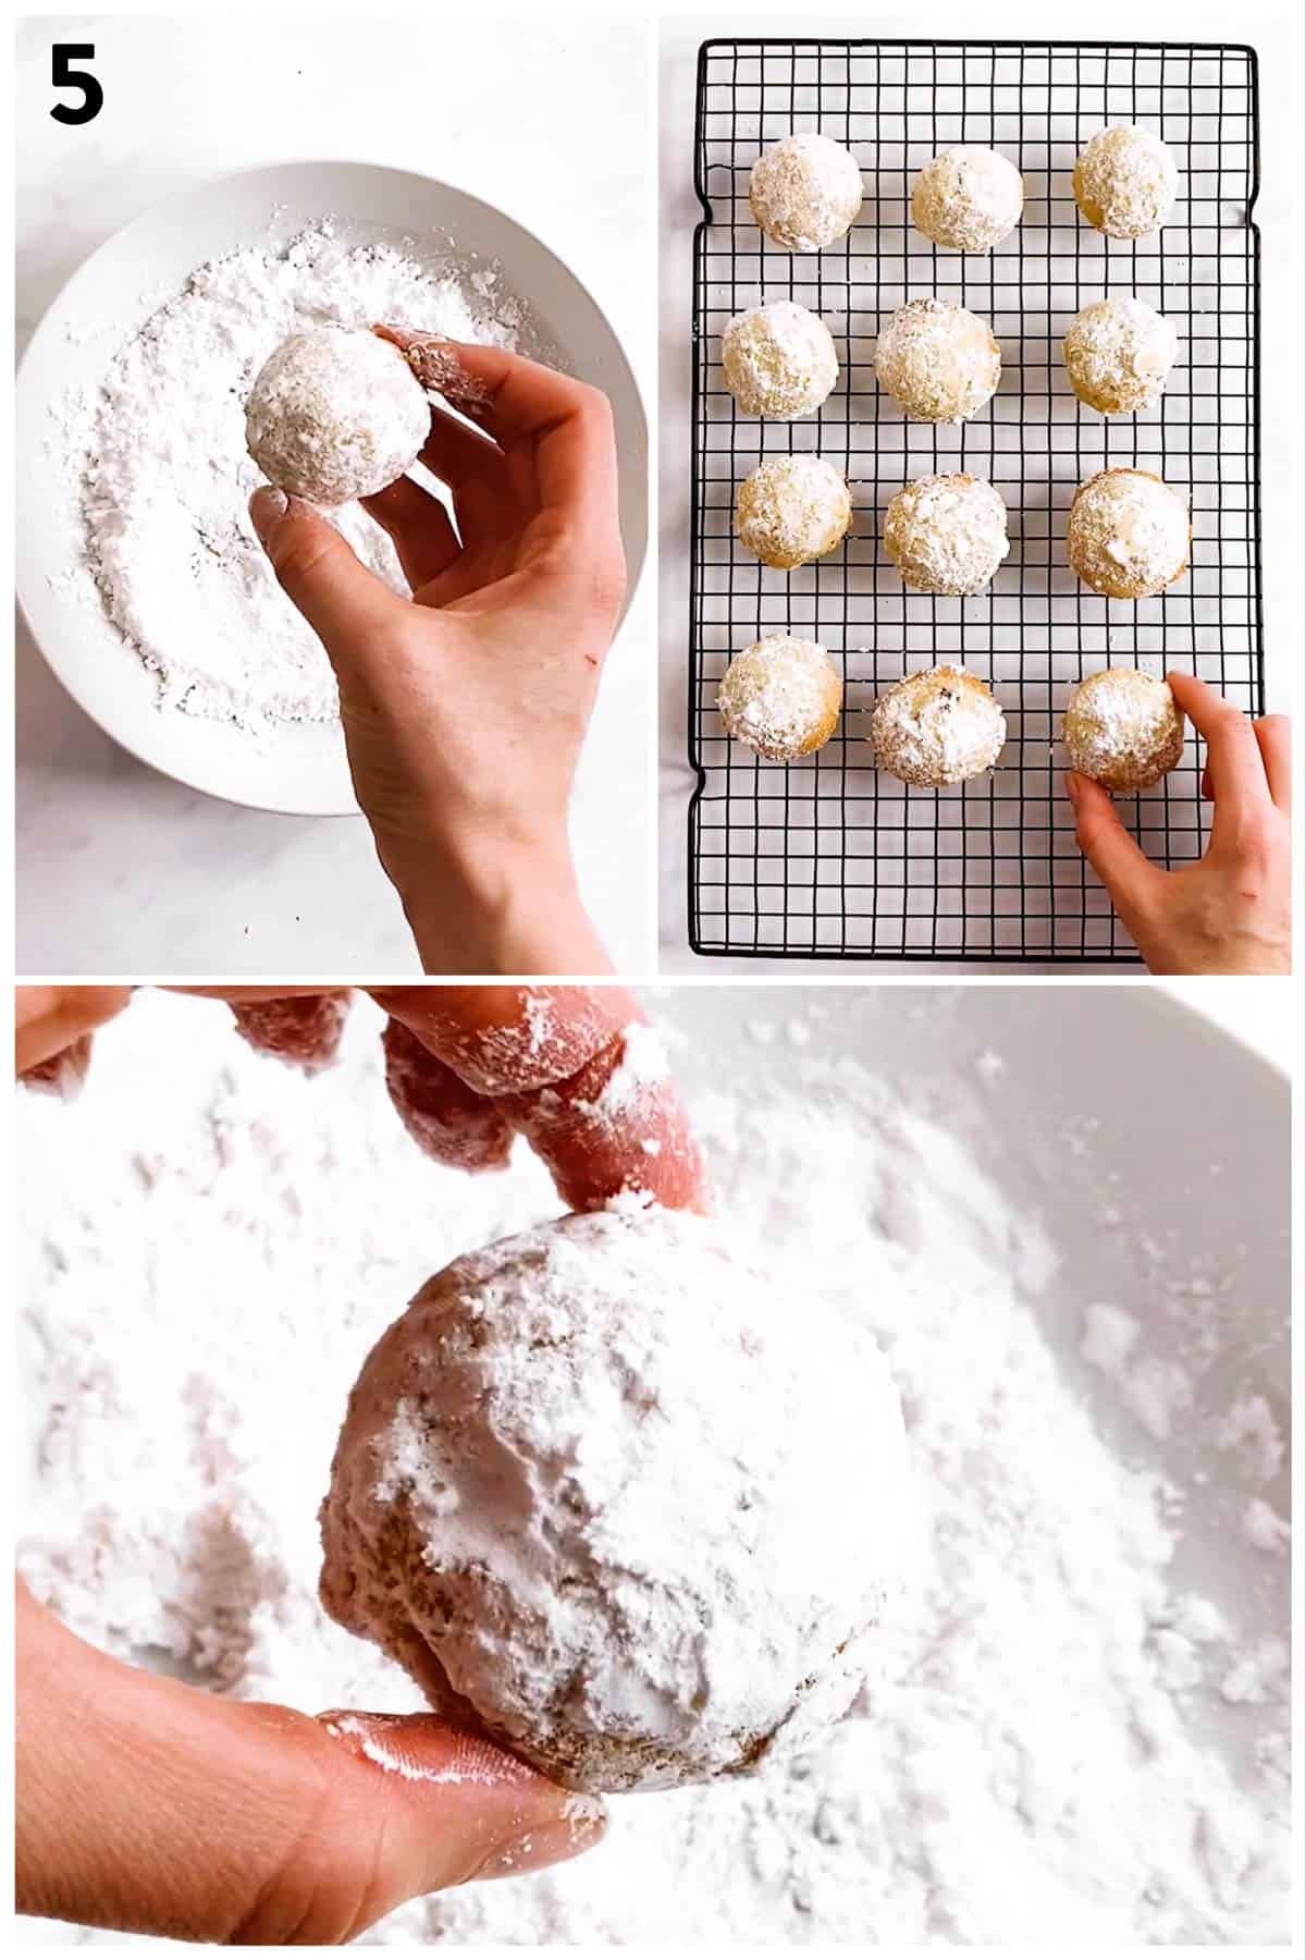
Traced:
<path fill-rule="evenodd" d="M 249 517 L 282 590 L 333 664 L 366 657 L 368 641 L 403 617 L 397 592 L 360 564 L 337 527 L 303 498 L 260 484 Z"/>

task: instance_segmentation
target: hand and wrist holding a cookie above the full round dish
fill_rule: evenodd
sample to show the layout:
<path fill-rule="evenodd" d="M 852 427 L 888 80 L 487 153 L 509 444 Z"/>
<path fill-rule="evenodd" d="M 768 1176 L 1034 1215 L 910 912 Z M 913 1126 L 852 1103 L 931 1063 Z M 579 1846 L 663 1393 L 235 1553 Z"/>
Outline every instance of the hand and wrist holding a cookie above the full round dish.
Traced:
<path fill-rule="evenodd" d="M 380 329 L 441 408 L 421 461 L 366 498 L 399 598 L 311 504 L 251 517 L 341 686 L 358 804 L 427 972 L 607 972 L 576 890 L 568 800 L 625 592 L 607 398 L 491 347 Z M 458 539 L 462 537 L 462 543 Z"/>

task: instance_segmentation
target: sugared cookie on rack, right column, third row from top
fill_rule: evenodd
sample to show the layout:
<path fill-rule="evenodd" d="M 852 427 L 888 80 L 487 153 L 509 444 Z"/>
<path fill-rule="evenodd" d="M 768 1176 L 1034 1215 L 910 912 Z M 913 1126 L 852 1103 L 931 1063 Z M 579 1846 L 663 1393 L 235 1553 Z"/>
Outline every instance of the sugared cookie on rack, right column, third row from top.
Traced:
<path fill-rule="evenodd" d="M 1189 570 L 1190 537 L 1183 500 L 1151 470 L 1098 470 L 1075 492 L 1065 555 L 1108 600 L 1147 600 Z"/>

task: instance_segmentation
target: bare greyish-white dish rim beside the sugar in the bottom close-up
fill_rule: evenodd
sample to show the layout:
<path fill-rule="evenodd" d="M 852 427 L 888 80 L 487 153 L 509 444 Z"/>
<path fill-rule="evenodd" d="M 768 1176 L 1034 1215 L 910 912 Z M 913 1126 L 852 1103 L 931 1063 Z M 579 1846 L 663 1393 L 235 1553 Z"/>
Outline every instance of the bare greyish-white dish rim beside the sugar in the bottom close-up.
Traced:
<path fill-rule="evenodd" d="M 1126 1462 L 1200 1492 L 1171 1566 L 1247 1629 L 1288 1641 L 1290 1572 L 1247 1539 L 1253 1495 L 1292 1513 L 1290 1448 L 1251 1484 L 1216 1431 L 1236 1396 L 1263 1396 L 1292 1429 L 1288 1078 L 1149 984 L 1116 988 L 726 986 L 646 990 L 687 1035 L 683 1074 L 742 1090 L 803 1088 L 811 1058 L 858 1064 L 973 1154 L 1004 1205 L 1038 1221 L 1059 1258 L 1030 1296 L 1067 1380 Z M 771 1039 L 758 1045 L 758 1027 Z M 856 1096 L 840 1084 L 838 1096 Z M 1114 1223 L 1106 1225 L 1104 1219 Z M 1234 1303 L 1210 1368 L 1167 1282 L 1202 1274 Z M 1192 1405 L 1153 1439 L 1081 1354 L 1085 1309 L 1134 1315 L 1147 1352 L 1194 1376 Z M 1245 1774 L 1261 1713 L 1204 1699 L 1202 1739 Z"/>

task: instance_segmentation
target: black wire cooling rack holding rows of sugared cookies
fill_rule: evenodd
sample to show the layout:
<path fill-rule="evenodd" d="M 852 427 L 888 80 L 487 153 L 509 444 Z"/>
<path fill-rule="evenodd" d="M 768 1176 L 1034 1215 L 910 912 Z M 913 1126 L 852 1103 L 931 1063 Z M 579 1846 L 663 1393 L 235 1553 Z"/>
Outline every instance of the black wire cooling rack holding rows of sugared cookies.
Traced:
<path fill-rule="evenodd" d="M 1159 237 L 1083 223 L 1071 165 L 1108 123 L 1143 123 L 1179 169 Z M 789 255 L 748 212 L 764 143 L 822 129 L 862 165 L 865 204 L 832 251 Z M 985 143 L 1024 174 L 1024 221 L 989 255 L 930 245 L 910 223 L 920 167 Z M 693 541 L 689 627 L 689 943 L 791 958 L 1136 960 L 1085 868 L 1055 747 L 1087 672 L 1189 668 L 1263 711 L 1259 563 L 1257 67 L 1249 47 L 1018 41 L 707 41 L 699 53 L 693 247 Z M 957 300 L 993 325 L 1003 384 L 961 425 L 910 423 L 879 396 L 875 331 L 905 300 Z M 1061 339 L 1081 306 L 1136 292 L 1181 333 L 1163 402 L 1104 419 L 1081 408 Z M 738 416 L 721 329 L 793 298 L 822 316 L 840 384 L 818 416 Z M 732 539 L 736 486 L 762 455 L 818 449 L 846 468 L 854 531 L 797 572 Z M 1079 482 L 1108 465 L 1153 470 L 1190 498 L 1192 566 L 1138 606 L 1081 586 L 1065 563 Z M 989 476 L 1012 549 L 989 592 L 909 592 L 879 547 L 883 508 L 912 476 Z M 717 690 L 766 631 L 818 639 L 844 670 L 836 737 L 795 764 L 726 739 Z M 907 790 L 871 766 L 879 690 L 936 661 L 989 680 L 1008 723 L 993 776 Z M 1159 864 L 1200 857 L 1210 819 L 1200 757 L 1118 809 Z"/>

